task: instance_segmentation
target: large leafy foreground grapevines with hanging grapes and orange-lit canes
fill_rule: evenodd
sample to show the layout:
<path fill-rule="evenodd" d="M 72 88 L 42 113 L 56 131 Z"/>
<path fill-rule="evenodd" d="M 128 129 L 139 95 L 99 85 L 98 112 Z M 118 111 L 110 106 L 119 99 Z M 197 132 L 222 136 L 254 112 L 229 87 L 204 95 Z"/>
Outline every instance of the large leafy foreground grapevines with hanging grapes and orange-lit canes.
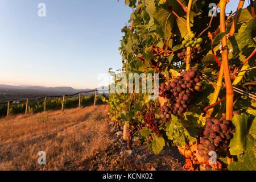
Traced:
<path fill-rule="evenodd" d="M 122 75 L 159 74 L 147 77 L 156 100 L 135 83 L 109 94 L 128 147 L 146 143 L 158 155 L 176 146 L 188 171 L 256 170 L 255 1 L 237 1 L 234 13 L 228 0 L 125 2 L 133 13 L 122 28 L 122 70 L 109 71 L 115 86 Z"/>

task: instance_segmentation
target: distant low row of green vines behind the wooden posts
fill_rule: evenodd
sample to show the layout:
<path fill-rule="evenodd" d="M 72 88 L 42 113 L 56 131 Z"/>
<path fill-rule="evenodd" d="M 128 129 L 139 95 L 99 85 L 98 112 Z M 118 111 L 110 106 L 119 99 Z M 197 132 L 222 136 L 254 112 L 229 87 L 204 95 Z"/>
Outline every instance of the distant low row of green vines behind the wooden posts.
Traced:
<path fill-rule="evenodd" d="M 102 99 L 104 100 L 106 96 L 98 95 L 96 96 L 96 104 L 102 104 Z M 28 112 L 29 113 L 38 113 L 44 111 L 44 107 L 46 106 L 46 110 L 55 110 L 60 109 L 63 102 L 63 98 L 53 98 L 47 101 L 39 100 L 39 101 L 29 101 L 28 102 Z M 81 106 L 92 105 L 94 102 L 94 95 L 91 96 L 81 96 Z M 64 108 L 77 107 L 79 105 L 79 97 L 69 97 L 65 98 Z M 24 113 L 26 109 L 26 102 L 22 104 L 11 104 L 9 109 L 9 114 L 20 114 Z M 5 116 L 7 113 L 7 104 L 0 105 L 0 117 Z"/>

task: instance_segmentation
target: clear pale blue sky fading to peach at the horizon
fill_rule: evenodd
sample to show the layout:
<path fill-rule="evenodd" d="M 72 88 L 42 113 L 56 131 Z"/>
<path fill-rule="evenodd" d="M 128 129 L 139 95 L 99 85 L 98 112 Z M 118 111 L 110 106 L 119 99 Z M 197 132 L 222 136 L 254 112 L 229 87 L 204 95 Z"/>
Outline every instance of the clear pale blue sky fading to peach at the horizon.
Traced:
<path fill-rule="evenodd" d="M 119 40 L 131 12 L 124 0 L 1 0 L 0 84 L 101 86 L 99 74 L 122 67 Z"/>

